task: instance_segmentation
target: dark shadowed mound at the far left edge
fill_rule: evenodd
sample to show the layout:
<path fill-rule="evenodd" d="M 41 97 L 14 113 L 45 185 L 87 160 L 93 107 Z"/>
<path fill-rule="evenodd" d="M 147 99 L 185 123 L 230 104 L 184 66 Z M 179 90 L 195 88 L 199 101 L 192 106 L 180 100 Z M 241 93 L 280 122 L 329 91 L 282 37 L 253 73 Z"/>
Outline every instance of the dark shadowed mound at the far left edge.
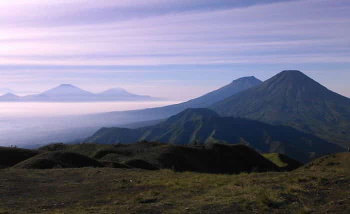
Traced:
<path fill-rule="evenodd" d="M 39 153 L 41 152 L 38 150 L 13 148 L 13 147 L 0 147 L 0 168 L 11 167 Z"/>

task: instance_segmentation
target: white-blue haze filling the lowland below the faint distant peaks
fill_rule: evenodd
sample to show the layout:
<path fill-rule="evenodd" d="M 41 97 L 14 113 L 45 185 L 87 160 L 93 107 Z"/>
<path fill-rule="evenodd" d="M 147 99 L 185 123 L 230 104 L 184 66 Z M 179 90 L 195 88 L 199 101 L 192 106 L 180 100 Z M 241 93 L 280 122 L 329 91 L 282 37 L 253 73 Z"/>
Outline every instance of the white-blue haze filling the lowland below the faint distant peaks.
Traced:
<path fill-rule="evenodd" d="M 128 123 L 82 114 L 157 107 L 179 101 L 131 102 L 1 102 L 0 146 L 71 141 L 102 126 Z M 81 116 L 80 116 L 81 115 Z"/>

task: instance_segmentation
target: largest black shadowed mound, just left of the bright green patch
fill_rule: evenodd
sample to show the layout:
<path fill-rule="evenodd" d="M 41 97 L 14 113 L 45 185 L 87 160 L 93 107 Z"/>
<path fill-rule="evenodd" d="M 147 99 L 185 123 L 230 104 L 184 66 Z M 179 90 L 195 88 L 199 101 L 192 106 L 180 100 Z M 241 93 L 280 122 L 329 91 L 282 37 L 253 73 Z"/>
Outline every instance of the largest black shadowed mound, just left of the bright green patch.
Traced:
<path fill-rule="evenodd" d="M 209 148 L 170 146 L 158 157 L 162 168 L 176 171 L 239 173 L 278 170 L 278 167 L 245 145 L 214 143 Z"/>

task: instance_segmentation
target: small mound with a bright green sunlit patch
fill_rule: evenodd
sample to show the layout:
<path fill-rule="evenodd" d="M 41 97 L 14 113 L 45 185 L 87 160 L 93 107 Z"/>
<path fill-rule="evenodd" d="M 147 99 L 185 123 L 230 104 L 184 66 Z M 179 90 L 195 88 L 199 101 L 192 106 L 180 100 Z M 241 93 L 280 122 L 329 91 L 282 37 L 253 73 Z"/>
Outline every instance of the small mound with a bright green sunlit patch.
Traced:
<path fill-rule="evenodd" d="M 265 153 L 262 154 L 265 158 L 269 159 L 271 162 L 276 164 L 283 171 L 294 170 L 300 166 L 302 163 L 288 157 L 287 155 L 280 153 Z"/>

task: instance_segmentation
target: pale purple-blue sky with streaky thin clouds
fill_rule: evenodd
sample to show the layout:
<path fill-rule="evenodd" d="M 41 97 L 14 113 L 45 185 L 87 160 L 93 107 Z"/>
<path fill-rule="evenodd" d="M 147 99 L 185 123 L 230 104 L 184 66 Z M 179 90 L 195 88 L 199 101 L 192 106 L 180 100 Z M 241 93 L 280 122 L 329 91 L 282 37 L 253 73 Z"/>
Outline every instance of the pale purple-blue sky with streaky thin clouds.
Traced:
<path fill-rule="evenodd" d="M 1 0 L 0 89 L 186 100 L 299 69 L 350 97 L 349 11 L 349 0 Z"/>

